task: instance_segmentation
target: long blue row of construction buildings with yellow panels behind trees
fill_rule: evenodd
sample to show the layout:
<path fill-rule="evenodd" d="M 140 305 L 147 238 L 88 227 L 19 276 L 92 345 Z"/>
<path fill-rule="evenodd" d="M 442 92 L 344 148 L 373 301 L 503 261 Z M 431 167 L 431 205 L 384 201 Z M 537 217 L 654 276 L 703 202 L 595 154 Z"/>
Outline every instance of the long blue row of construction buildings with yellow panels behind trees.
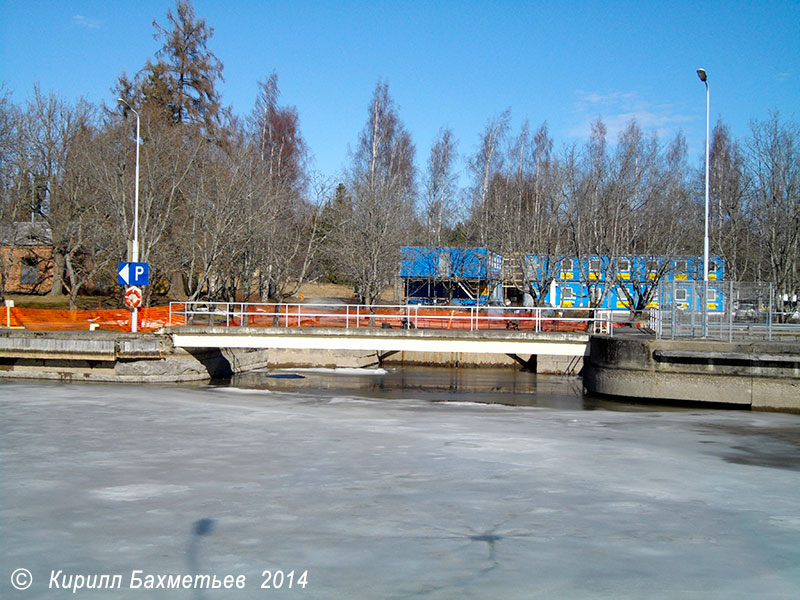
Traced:
<path fill-rule="evenodd" d="M 502 257 L 486 248 L 405 247 L 408 304 L 545 305 L 643 311 L 702 310 L 703 259 L 693 256 Z M 709 258 L 707 309 L 722 312 L 725 263 Z"/>

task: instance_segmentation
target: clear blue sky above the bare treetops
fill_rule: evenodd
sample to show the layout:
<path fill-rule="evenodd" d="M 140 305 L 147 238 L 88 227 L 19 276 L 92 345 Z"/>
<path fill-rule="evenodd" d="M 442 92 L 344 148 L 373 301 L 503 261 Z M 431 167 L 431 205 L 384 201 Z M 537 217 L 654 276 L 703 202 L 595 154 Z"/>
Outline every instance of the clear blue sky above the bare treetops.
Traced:
<path fill-rule="evenodd" d="M 24 101 L 38 83 L 69 100 L 110 89 L 159 47 L 174 1 L 0 0 L 0 82 Z M 777 110 L 800 120 L 800 2 L 305 2 L 195 0 L 225 65 L 223 101 L 252 109 L 275 70 L 316 170 L 347 162 L 376 83 L 386 81 L 424 169 L 440 127 L 472 154 L 492 116 L 547 121 L 556 147 L 583 143 L 598 116 L 615 136 L 631 117 L 702 160 L 705 88 L 712 126 L 743 138 Z M 463 181 L 463 178 L 462 178 Z"/>

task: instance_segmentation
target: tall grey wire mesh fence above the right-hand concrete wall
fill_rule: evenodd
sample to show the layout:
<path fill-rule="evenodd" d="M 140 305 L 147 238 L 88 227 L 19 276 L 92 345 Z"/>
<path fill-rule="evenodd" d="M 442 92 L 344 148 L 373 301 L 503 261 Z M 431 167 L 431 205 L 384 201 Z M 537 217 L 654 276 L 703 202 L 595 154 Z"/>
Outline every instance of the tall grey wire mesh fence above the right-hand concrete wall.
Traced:
<path fill-rule="evenodd" d="M 661 338 L 800 340 L 798 299 L 771 283 L 662 282 L 657 303 L 651 319 Z"/>

